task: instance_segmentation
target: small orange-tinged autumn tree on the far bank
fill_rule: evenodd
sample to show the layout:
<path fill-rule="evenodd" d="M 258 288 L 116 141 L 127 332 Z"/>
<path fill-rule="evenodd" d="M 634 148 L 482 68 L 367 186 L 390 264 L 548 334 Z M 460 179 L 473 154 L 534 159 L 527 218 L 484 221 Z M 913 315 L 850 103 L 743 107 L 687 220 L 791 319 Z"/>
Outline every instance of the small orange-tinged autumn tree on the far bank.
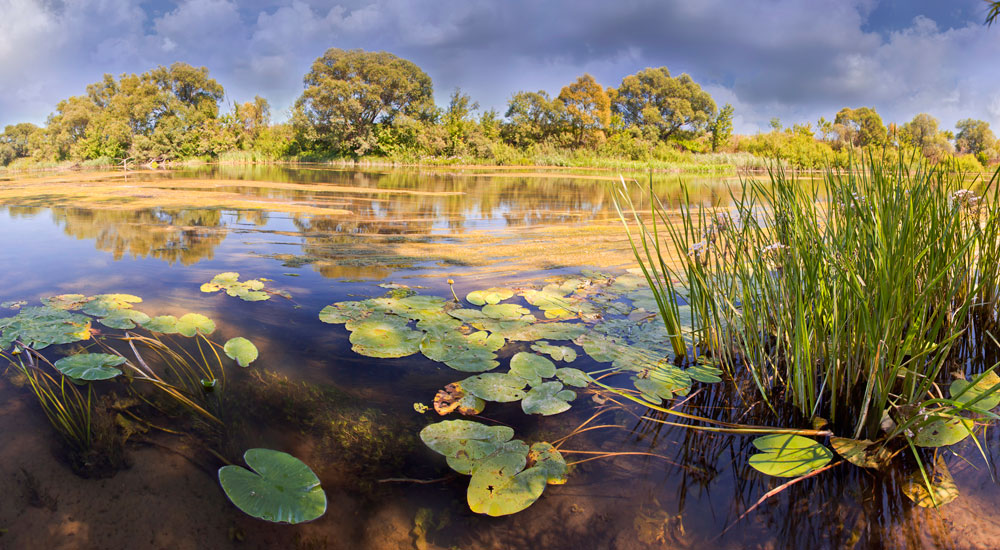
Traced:
<path fill-rule="evenodd" d="M 566 106 L 560 99 L 537 92 L 517 92 L 507 102 L 504 115 L 504 139 L 525 147 L 553 138 L 562 132 L 566 120 Z"/>

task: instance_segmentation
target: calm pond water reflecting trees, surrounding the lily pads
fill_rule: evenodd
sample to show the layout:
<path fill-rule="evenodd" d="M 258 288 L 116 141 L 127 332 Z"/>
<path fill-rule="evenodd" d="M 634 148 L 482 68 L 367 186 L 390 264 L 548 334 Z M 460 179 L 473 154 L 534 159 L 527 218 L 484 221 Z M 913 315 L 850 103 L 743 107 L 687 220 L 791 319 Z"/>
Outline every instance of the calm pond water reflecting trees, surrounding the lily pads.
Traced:
<path fill-rule="evenodd" d="M 553 416 L 526 415 L 517 403 L 486 405 L 475 420 L 510 426 L 528 443 L 559 441 L 596 413 L 589 425 L 607 427 L 561 443 L 568 462 L 584 462 L 525 511 L 471 512 L 468 476 L 453 474 L 418 437 L 441 418 L 413 404 L 430 405 L 439 389 L 474 373 L 419 353 L 360 355 L 344 325 L 321 322 L 319 312 L 402 285 L 451 297 L 448 279 L 464 297 L 581 272 L 623 274 L 635 261 L 607 187 L 615 179 L 555 170 L 227 166 L 0 181 L 0 302 L 30 307 L 59 294 L 133 294 L 150 315 L 201 313 L 216 323 L 213 340 L 245 336 L 260 351 L 247 369 L 226 367 L 230 394 L 215 409 L 223 427 L 147 407 L 149 425 L 130 437 L 125 467 L 91 477 L 74 473 L 38 401 L 8 369 L 0 376 L 0 547 L 997 546 L 996 472 L 971 444 L 957 449 L 961 457 L 945 457 L 962 496 L 940 510 L 915 507 L 899 490 L 900 476 L 840 467 L 737 521 L 785 481 L 748 466 L 751 438 L 657 424 L 642 418 L 656 413 L 637 405 L 599 405 L 593 387 L 579 389 L 572 409 Z M 658 176 L 654 189 L 665 204 L 685 200 L 679 181 L 687 200 L 712 206 L 727 204 L 737 183 Z M 269 279 L 268 288 L 288 297 L 248 302 L 199 290 L 222 272 Z M 520 296 L 510 302 L 526 305 Z M 0 317 L 18 312 L 16 303 L 5 308 Z M 530 344 L 508 342 L 498 351 L 499 370 Z M 59 357 L 54 348 L 45 353 Z M 571 365 L 607 366 L 582 351 Z M 752 404 L 721 383 L 692 392 L 680 410 L 738 420 Z M 135 430 L 127 418 L 120 422 Z M 992 458 L 996 430 L 985 443 Z M 243 450 L 257 447 L 312 467 L 326 514 L 288 526 L 236 509 L 216 471 L 223 460 L 242 464 Z"/>

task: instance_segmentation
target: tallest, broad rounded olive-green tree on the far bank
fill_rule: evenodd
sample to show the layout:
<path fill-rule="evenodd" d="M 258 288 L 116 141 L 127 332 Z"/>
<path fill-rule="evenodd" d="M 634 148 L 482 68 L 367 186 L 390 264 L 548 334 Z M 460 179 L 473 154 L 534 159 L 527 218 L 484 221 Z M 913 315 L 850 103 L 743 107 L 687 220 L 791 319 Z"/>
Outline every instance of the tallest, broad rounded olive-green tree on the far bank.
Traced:
<path fill-rule="evenodd" d="M 387 52 L 330 48 L 313 62 L 294 120 L 329 149 L 364 153 L 376 124 L 404 114 L 427 118 L 434 109 L 431 78 Z"/>

